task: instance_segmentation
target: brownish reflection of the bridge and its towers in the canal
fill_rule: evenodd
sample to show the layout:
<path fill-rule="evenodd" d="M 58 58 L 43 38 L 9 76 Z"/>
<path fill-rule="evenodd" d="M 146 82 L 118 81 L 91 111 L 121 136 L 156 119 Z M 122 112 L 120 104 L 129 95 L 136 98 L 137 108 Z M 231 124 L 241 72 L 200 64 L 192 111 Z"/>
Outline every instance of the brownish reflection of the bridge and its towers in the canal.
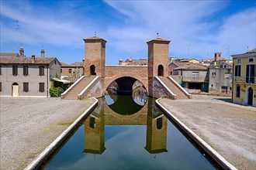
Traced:
<path fill-rule="evenodd" d="M 119 96 L 126 98 L 126 95 Z M 133 115 L 120 115 L 113 110 L 108 109 L 104 98 L 99 99 L 98 107 L 84 122 L 85 128 L 85 153 L 102 154 L 105 148 L 105 126 L 107 125 L 146 125 L 146 146 L 145 149 L 150 154 L 160 154 L 166 152 L 166 138 L 167 138 L 167 118 L 164 114 L 154 110 L 152 107 L 154 100 L 148 100 L 150 104 L 145 104 L 144 109 L 139 113 Z M 98 108 L 97 107 L 97 108 Z M 98 111 L 98 113 L 97 113 Z M 135 121 L 135 119 L 137 121 Z"/>

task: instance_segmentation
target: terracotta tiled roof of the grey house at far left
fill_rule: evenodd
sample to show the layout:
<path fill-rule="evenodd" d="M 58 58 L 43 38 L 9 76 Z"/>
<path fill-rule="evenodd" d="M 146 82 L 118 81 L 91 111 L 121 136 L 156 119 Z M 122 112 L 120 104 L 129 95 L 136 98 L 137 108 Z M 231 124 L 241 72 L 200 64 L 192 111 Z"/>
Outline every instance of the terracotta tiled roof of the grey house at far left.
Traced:
<path fill-rule="evenodd" d="M 9 63 L 16 63 L 16 64 L 22 64 L 22 63 L 26 63 L 26 64 L 49 64 L 54 59 L 56 59 L 56 58 L 55 57 L 46 57 L 46 58 L 36 57 L 35 58 L 35 63 L 32 63 L 31 57 L 1 56 L 0 57 L 0 63 L 5 63 L 5 64 L 9 64 Z"/>

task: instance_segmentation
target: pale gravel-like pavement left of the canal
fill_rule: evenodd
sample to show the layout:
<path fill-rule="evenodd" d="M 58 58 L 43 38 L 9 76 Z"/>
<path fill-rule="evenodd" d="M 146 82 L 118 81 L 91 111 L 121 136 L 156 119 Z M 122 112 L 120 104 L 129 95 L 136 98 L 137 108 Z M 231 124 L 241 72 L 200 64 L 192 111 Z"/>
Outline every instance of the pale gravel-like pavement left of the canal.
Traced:
<path fill-rule="evenodd" d="M 0 98 L 0 169 L 26 168 L 95 100 Z"/>

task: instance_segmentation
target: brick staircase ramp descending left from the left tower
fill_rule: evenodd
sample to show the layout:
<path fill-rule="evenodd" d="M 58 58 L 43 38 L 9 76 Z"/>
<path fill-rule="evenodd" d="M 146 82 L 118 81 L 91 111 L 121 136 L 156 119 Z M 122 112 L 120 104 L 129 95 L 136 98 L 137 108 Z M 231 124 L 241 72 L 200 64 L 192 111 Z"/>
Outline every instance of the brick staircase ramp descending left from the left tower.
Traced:
<path fill-rule="evenodd" d="M 71 86 L 71 88 L 68 88 L 64 93 L 61 94 L 62 99 L 78 99 L 78 94 L 81 93 L 82 90 L 85 89 L 85 87 L 88 86 L 89 83 L 92 82 L 92 80 L 95 79 L 96 76 L 83 76 L 81 79 L 78 79 L 74 85 L 74 87 Z"/>

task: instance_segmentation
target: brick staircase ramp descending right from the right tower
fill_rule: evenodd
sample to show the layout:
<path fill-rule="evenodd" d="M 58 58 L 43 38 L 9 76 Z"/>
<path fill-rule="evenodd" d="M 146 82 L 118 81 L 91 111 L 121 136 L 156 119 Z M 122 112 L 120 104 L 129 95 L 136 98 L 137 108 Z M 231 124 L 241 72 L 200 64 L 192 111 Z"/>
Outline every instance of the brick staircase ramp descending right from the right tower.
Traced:
<path fill-rule="evenodd" d="M 164 83 L 166 87 L 171 90 L 172 93 L 176 95 L 175 99 L 188 99 L 191 98 L 189 93 L 185 93 L 182 87 L 178 87 L 178 83 L 175 83 L 175 80 L 171 80 L 170 77 L 158 76 L 158 78 Z M 183 90 L 182 90 L 183 89 Z"/>

